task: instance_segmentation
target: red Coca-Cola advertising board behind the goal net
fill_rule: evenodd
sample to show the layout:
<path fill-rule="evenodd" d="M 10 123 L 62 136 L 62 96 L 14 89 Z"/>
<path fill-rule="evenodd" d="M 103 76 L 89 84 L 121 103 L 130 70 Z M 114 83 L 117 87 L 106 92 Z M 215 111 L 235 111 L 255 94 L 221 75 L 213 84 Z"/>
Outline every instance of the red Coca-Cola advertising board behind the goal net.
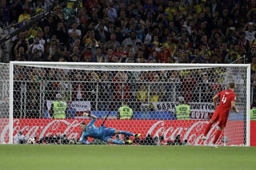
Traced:
<path fill-rule="evenodd" d="M 79 138 L 79 124 L 82 121 L 89 123 L 90 119 L 14 119 L 14 136 L 18 131 L 22 131 L 26 137 L 37 136 L 41 138 L 55 134 L 66 134 L 68 138 Z M 99 119 L 95 125 L 101 125 L 102 121 L 102 119 Z M 142 137 L 145 137 L 149 133 L 151 136 L 164 136 L 165 142 L 167 140 L 174 140 L 175 136 L 180 135 L 182 140 L 188 140 L 192 145 L 202 145 L 210 144 L 214 140 L 217 125 L 214 125 L 210 130 L 208 140 L 201 140 L 208 122 L 197 120 L 107 120 L 105 125 L 108 128 L 116 128 L 134 133 L 140 132 L 142 133 Z M 227 127 L 230 129 L 225 133 L 229 138 L 227 145 L 240 145 L 244 143 L 244 131 L 238 131 L 232 128 L 237 127 L 237 125 L 243 127 L 243 121 L 228 121 Z M 1 143 L 8 141 L 9 125 L 6 124 L 5 128 L 0 129 L 0 132 Z M 218 144 L 222 144 L 220 140 L 218 140 Z"/>

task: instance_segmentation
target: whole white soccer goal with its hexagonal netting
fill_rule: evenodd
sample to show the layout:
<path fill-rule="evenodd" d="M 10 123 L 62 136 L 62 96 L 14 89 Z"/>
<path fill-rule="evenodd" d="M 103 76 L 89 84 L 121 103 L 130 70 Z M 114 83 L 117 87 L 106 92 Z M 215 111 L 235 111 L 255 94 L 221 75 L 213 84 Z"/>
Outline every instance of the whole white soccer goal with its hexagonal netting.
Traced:
<path fill-rule="evenodd" d="M 250 145 L 250 65 L 20 62 L 2 64 L 0 140 L 68 143 L 80 123 L 140 132 L 134 144 L 206 145 L 202 134 L 214 113 L 212 97 L 236 84 L 239 113 L 230 116 L 219 145 Z M 58 110 L 61 101 L 62 110 Z M 178 107 L 182 110 L 177 111 Z M 126 110 L 120 107 L 126 106 Z M 127 136 L 114 136 L 125 140 Z M 85 144 L 105 144 L 86 140 Z"/>

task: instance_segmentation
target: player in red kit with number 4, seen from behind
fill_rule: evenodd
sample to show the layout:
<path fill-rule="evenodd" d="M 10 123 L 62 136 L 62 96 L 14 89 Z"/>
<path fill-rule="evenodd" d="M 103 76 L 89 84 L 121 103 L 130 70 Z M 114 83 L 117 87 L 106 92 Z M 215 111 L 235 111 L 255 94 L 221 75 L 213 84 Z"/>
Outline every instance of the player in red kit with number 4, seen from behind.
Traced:
<path fill-rule="evenodd" d="M 226 127 L 226 122 L 229 117 L 230 109 L 233 109 L 235 113 L 238 113 L 238 110 L 235 107 L 236 95 L 234 93 L 234 83 L 229 84 L 229 89 L 223 90 L 222 92 L 216 94 L 213 97 L 214 106 L 216 108 L 213 117 L 211 118 L 209 124 L 206 127 L 204 136 L 202 140 L 206 140 L 206 136 L 210 131 L 211 126 L 218 121 L 218 130 L 214 137 L 214 142 L 212 147 L 217 148 L 216 142 L 218 137 L 222 134 L 223 128 Z M 217 105 L 218 98 L 220 98 L 219 105 Z"/>

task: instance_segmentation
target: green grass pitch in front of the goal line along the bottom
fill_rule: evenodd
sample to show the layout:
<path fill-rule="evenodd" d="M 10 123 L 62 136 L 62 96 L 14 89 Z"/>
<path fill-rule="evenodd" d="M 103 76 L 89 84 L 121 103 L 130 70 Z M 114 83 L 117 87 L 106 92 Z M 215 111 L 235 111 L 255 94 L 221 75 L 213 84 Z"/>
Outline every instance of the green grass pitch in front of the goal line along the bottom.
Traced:
<path fill-rule="evenodd" d="M 0 144 L 0 169 L 255 170 L 256 148 Z"/>

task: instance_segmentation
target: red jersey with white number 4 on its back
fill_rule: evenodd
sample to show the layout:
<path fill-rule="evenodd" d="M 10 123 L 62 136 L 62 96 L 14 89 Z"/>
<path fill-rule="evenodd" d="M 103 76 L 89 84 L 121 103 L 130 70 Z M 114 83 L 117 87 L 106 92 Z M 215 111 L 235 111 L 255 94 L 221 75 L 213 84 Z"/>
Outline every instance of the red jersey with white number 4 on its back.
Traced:
<path fill-rule="evenodd" d="M 227 89 L 218 93 L 218 97 L 220 98 L 218 109 L 230 111 L 231 101 L 235 101 L 236 99 L 235 93 L 232 90 Z"/>

